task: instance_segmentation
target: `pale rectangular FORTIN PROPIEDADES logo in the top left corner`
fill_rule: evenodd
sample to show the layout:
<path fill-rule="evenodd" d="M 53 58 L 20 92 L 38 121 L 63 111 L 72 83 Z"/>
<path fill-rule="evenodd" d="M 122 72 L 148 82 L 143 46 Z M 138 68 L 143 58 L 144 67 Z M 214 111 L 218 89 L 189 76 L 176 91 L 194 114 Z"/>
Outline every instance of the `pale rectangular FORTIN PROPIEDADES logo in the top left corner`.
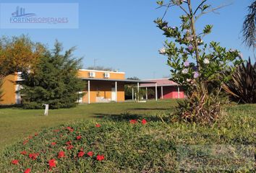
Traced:
<path fill-rule="evenodd" d="M 0 28 L 78 28 L 78 24 L 77 3 L 0 3 Z"/>

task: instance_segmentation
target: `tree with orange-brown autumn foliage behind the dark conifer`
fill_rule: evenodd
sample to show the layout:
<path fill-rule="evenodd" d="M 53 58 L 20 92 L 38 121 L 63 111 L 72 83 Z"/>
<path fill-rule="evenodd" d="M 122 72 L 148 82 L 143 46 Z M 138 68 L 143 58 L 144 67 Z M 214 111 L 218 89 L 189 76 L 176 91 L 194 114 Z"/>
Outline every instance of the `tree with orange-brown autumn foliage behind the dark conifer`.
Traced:
<path fill-rule="evenodd" d="M 45 51 L 41 43 L 34 43 L 29 37 L 0 38 L 0 79 L 17 71 L 32 69 Z"/>

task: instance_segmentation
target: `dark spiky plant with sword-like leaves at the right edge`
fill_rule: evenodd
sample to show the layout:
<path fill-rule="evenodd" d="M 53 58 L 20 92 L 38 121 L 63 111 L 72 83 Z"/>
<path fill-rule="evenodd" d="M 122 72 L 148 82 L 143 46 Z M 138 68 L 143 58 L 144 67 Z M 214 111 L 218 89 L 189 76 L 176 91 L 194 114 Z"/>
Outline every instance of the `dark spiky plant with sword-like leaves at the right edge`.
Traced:
<path fill-rule="evenodd" d="M 223 89 L 234 102 L 256 103 L 256 62 L 252 64 L 249 58 L 247 63 L 242 63 Z"/>

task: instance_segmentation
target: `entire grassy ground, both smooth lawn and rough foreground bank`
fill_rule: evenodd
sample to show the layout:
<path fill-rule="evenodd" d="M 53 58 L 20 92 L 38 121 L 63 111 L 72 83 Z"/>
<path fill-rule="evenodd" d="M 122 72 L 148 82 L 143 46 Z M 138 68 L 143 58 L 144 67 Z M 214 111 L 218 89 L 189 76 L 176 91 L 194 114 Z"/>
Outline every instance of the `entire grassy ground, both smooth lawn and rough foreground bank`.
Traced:
<path fill-rule="evenodd" d="M 41 116 L 43 110 L 2 109 L 1 141 L 7 148 L 0 153 L 0 170 L 256 172 L 256 105 L 226 105 L 216 123 L 200 125 L 176 121 L 170 114 L 175 104 L 80 105 L 51 110 L 48 117 Z"/>

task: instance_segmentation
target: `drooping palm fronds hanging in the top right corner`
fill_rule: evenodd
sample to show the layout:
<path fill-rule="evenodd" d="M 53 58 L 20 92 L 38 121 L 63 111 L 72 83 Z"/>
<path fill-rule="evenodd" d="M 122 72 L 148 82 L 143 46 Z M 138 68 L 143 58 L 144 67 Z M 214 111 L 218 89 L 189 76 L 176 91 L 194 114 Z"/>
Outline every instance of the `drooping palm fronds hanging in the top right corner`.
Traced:
<path fill-rule="evenodd" d="M 243 37 L 244 43 L 248 47 L 255 48 L 256 47 L 256 1 L 253 1 L 250 6 L 248 6 L 249 13 L 244 19 L 243 24 Z"/>

